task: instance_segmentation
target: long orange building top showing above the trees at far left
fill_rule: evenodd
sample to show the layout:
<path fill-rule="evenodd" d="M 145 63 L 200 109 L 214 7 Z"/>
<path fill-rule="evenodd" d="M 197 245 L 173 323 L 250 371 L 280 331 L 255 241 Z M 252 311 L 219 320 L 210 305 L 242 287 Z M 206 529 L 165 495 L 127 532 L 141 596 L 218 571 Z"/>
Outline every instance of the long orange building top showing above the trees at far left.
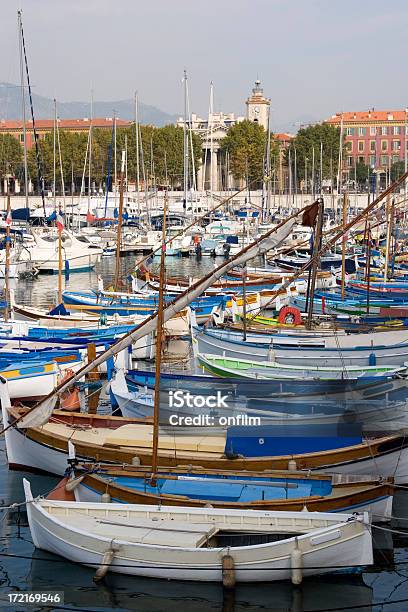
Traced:
<path fill-rule="evenodd" d="M 111 130 L 113 126 L 113 117 L 107 117 L 105 119 L 96 117 L 92 119 L 92 127 L 97 129 Z M 91 125 L 89 118 L 84 119 L 58 119 L 58 127 L 60 130 L 69 132 L 88 132 Z M 127 127 L 131 125 L 130 121 L 124 121 L 123 119 L 116 119 L 117 127 Z M 35 128 L 37 131 L 38 138 L 44 138 L 44 136 L 54 129 L 53 119 L 38 119 L 35 122 Z M 24 142 L 23 135 L 23 122 L 22 121 L 5 121 L 0 120 L 0 134 L 12 134 L 21 143 Z M 27 134 L 27 148 L 31 149 L 34 146 L 34 132 L 33 122 L 26 122 L 26 134 Z"/>

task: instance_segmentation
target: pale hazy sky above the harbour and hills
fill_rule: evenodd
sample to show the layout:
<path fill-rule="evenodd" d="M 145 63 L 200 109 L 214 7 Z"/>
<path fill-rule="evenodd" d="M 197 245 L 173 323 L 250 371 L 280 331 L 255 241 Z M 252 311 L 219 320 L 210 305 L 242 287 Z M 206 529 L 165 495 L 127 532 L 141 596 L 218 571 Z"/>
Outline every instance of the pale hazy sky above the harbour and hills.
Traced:
<path fill-rule="evenodd" d="M 18 82 L 17 9 L 31 80 L 61 101 L 131 98 L 244 113 L 253 81 L 272 128 L 341 110 L 405 108 L 407 0 L 0 0 L 0 81 Z M 0 111 L 1 114 L 1 111 Z"/>

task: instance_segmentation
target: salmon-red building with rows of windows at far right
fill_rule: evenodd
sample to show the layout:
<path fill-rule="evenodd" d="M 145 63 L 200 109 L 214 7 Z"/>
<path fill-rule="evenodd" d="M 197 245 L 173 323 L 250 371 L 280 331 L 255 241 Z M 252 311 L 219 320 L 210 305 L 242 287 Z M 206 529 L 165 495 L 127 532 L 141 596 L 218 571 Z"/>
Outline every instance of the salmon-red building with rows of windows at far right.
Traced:
<path fill-rule="evenodd" d="M 326 121 L 343 126 L 344 169 L 357 163 L 378 172 L 387 172 L 396 162 L 406 160 L 408 152 L 408 109 L 337 113 Z"/>

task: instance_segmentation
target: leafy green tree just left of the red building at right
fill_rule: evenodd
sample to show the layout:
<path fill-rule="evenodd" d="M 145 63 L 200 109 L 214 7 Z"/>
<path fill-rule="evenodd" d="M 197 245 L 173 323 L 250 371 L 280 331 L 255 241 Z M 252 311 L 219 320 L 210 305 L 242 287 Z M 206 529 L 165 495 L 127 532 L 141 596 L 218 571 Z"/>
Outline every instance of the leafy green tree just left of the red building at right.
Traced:
<path fill-rule="evenodd" d="M 321 151 L 323 152 L 323 179 L 335 178 L 338 168 L 339 149 L 340 128 L 327 123 L 321 123 L 300 129 L 290 146 L 292 165 L 294 164 L 294 153 L 296 150 L 297 179 L 304 179 L 307 169 L 307 175 L 310 180 L 313 155 L 315 177 L 319 176 Z M 288 159 L 289 150 L 286 152 L 286 162 L 288 162 Z"/>

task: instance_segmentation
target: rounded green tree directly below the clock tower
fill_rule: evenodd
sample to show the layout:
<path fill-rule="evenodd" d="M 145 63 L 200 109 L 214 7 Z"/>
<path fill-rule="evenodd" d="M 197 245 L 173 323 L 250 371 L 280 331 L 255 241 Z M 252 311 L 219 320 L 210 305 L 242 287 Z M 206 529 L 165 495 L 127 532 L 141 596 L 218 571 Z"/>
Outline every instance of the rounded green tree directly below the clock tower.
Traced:
<path fill-rule="evenodd" d="M 272 147 L 277 145 L 271 137 Z M 264 176 L 264 158 L 266 149 L 266 132 L 264 128 L 253 121 L 236 123 L 222 140 L 221 150 L 228 152 L 230 168 L 236 179 L 248 179 L 258 184 Z M 271 157 L 273 154 L 271 154 Z"/>

